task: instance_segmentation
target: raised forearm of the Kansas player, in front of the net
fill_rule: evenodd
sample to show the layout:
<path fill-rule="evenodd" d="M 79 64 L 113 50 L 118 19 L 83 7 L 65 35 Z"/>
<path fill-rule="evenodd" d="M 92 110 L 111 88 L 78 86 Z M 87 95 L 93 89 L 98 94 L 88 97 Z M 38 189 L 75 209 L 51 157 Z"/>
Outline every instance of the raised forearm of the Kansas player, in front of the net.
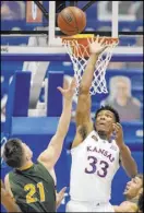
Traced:
<path fill-rule="evenodd" d="M 80 85 L 81 90 L 89 92 L 98 56 L 99 55 L 96 54 L 91 55 L 84 74 L 82 76 L 82 81 Z"/>

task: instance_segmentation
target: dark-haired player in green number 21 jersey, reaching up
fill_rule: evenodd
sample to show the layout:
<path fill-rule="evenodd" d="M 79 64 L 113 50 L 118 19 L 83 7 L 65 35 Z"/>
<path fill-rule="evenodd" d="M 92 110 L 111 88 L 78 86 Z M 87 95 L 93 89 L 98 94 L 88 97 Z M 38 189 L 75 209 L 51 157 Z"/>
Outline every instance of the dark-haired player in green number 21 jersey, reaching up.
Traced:
<path fill-rule="evenodd" d="M 58 87 L 64 97 L 63 111 L 56 134 L 36 164 L 32 161 L 33 152 L 20 139 L 10 139 L 4 145 L 3 159 L 14 168 L 5 176 L 5 188 L 22 212 L 56 212 L 53 167 L 69 129 L 75 85 L 73 79 L 69 88 Z"/>

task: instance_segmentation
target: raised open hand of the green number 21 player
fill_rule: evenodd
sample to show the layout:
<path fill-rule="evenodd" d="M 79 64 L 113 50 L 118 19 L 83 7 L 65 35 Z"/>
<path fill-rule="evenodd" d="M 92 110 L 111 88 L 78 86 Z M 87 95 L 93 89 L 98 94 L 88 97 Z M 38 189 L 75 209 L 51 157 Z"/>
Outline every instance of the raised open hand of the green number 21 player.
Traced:
<path fill-rule="evenodd" d="M 73 97 L 73 95 L 75 93 L 75 88 L 76 88 L 76 79 L 75 78 L 73 78 L 73 80 L 72 80 L 72 82 L 71 82 L 71 84 L 69 85 L 68 88 L 64 90 L 64 88 L 62 88 L 60 86 L 58 87 L 58 90 L 61 92 L 63 97 L 65 99 L 69 99 L 69 100 L 72 100 L 72 97 Z"/>

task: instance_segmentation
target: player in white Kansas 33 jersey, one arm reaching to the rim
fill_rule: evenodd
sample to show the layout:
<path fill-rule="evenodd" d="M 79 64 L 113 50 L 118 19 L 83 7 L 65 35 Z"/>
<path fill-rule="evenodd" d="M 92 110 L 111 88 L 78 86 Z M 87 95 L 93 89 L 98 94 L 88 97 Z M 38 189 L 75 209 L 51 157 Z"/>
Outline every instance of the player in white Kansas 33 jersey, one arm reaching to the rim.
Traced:
<path fill-rule="evenodd" d="M 109 200 L 119 163 L 130 177 L 137 174 L 136 164 L 123 141 L 118 113 L 105 106 L 96 111 L 94 122 L 91 119 L 89 88 L 98 56 L 107 48 L 104 39 L 98 43 L 97 36 L 89 45 L 91 57 L 80 85 L 67 212 L 115 212 Z M 115 140 L 111 139 L 113 132 Z"/>

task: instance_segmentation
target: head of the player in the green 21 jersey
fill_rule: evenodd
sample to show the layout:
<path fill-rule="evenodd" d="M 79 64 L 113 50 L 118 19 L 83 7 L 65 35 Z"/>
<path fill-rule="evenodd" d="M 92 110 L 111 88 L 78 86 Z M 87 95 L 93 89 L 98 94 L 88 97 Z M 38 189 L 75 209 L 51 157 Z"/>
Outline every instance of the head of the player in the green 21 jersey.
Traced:
<path fill-rule="evenodd" d="M 21 168 L 32 159 L 33 152 L 20 139 L 10 139 L 4 145 L 3 159 L 12 168 Z"/>

